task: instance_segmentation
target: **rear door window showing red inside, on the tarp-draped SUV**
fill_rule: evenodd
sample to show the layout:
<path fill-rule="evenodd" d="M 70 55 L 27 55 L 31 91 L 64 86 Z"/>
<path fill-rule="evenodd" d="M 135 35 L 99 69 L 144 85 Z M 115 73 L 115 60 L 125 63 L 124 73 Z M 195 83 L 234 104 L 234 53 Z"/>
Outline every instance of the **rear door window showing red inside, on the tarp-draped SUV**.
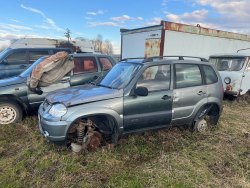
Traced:
<path fill-rule="evenodd" d="M 75 57 L 74 74 L 80 74 L 85 72 L 97 72 L 97 64 L 94 57 Z"/>

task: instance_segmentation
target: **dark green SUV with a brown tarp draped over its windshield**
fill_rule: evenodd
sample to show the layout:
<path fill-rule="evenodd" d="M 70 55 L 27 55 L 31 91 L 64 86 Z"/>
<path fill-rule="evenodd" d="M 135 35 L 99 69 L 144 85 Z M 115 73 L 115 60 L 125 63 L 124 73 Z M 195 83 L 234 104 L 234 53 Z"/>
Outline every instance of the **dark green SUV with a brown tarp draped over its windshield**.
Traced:
<path fill-rule="evenodd" d="M 82 53 L 73 54 L 73 57 L 75 64 L 73 71 L 61 81 L 42 87 L 42 95 L 29 90 L 27 80 L 33 68 L 46 57 L 37 60 L 20 75 L 0 80 L 0 124 L 21 120 L 23 114 L 37 109 L 49 92 L 91 82 L 104 76 L 115 65 L 115 60 L 107 55 Z M 89 62 L 91 62 L 91 66 L 89 66 Z"/>

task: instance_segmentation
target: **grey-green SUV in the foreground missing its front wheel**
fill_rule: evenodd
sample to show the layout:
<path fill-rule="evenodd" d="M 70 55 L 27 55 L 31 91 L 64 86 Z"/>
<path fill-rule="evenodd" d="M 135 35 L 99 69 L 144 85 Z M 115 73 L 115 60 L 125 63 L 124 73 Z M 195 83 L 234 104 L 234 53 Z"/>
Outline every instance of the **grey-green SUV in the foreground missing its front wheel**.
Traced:
<path fill-rule="evenodd" d="M 214 66 L 196 60 L 127 59 L 96 85 L 50 93 L 39 108 L 40 132 L 53 142 L 96 148 L 103 138 L 189 125 L 204 131 L 222 111 Z"/>

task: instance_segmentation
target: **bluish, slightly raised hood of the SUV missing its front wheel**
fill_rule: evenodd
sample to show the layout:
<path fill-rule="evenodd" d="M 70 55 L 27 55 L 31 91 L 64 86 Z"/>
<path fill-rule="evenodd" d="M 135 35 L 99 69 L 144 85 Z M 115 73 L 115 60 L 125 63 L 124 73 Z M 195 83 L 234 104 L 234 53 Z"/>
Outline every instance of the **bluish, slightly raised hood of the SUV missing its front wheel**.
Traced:
<path fill-rule="evenodd" d="M 47 95 L 46 100 L 51 104 L 63 103 L 65 106 L 72 106 L 122 96 L 122 90 L 109 89 L 94 85 L 83 85 L 52 92 Z"/>

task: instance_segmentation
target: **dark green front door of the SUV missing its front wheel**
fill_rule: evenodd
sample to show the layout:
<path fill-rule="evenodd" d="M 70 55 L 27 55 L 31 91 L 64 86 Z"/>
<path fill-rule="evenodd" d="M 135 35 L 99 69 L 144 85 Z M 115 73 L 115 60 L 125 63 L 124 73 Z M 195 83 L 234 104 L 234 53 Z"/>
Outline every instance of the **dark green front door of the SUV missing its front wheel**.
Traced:
<path fill-rule="evenodd" d="M 158 77 L 163 66 L 166 77 Z M 141 74 L 135 87 L 146 87 L 147 96 L 124 96 L 124 132 L 169 126 L 172 119 L 172 90 L 170 89 L 170 65 L 152 66 Z"/>

